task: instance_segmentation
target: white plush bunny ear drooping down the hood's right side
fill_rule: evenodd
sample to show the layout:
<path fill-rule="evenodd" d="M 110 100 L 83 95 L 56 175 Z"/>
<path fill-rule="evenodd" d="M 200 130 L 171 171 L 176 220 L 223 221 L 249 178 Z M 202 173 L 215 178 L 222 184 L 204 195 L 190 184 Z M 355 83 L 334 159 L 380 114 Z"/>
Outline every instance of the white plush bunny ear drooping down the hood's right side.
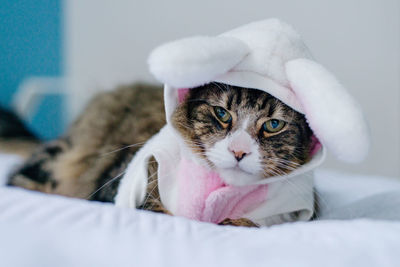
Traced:
<path fill-rule="evenodd" d="M 309 59 L 286 63 L 286 74 L 318 139 L 335 156 L 359 162 L 369 150 L 369 131 L 359 105 L 324 67 Z"/>

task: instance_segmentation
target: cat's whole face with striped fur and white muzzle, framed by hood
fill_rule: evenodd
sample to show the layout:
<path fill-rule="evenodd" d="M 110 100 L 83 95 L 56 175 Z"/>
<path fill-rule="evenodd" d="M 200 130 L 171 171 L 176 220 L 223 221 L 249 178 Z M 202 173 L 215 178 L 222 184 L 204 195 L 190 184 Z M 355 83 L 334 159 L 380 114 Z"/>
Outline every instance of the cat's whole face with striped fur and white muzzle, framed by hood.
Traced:
<path fill-rule="evenodd" d="M 304 116 L 260 90 L 220 83 L 191 89 L 172 123 L 227 184 L 287 174 L 310 154 Z"/>

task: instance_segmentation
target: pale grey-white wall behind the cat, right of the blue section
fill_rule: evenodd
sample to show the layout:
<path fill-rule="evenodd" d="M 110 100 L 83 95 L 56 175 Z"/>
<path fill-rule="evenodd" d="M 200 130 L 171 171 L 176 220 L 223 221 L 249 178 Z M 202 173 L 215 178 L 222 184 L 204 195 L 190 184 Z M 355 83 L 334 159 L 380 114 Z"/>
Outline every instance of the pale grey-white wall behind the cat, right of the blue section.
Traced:
<path fill-rule="evenodd" d="M 278 17 L 303 35 L 315 58 L 359 100 L 369 119 L 370 156 L 358 173 L 400 176 L 400 1 L 68 0 L 66 73 L 76 114 L 90 95 L 135 80 L 154 81 L 146 57 L 181 37 L 214 35 Z"/>

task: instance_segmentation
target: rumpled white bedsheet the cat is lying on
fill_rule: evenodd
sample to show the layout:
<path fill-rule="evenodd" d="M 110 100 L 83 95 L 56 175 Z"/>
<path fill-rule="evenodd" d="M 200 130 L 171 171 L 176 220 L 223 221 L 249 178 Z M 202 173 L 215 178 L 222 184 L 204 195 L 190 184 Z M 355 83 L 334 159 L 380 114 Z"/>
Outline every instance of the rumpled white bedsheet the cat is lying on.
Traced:
<path fill-rule="evenodd" d="M 3 175 L 4 165 L 11 164 L 5 162 L 0 156 Z M 331 171 L 317 177 L 327 217 L 343 216 L 340 207 L 365 198 L 400 192 L 395 179 Z M 400 223 L 355 219 L 221 227 L 0 187 L 0 266 L 398 267 Z"/>

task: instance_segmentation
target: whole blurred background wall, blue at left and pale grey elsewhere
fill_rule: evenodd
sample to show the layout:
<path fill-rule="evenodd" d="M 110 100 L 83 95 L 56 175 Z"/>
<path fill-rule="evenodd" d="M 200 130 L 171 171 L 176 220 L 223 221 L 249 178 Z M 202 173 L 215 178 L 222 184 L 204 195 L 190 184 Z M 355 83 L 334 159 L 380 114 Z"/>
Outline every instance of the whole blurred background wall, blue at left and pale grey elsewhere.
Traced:
<path fill-rule="evenodd" d="M 400 177 L 400 1 L 2 0 L 0 106 L 48 140 L 93 94 L 156 81 L 146 59 L 166 41 L 280 18 L 360 102 L 372 148 L 365 162 L 325 167 Z"/>

